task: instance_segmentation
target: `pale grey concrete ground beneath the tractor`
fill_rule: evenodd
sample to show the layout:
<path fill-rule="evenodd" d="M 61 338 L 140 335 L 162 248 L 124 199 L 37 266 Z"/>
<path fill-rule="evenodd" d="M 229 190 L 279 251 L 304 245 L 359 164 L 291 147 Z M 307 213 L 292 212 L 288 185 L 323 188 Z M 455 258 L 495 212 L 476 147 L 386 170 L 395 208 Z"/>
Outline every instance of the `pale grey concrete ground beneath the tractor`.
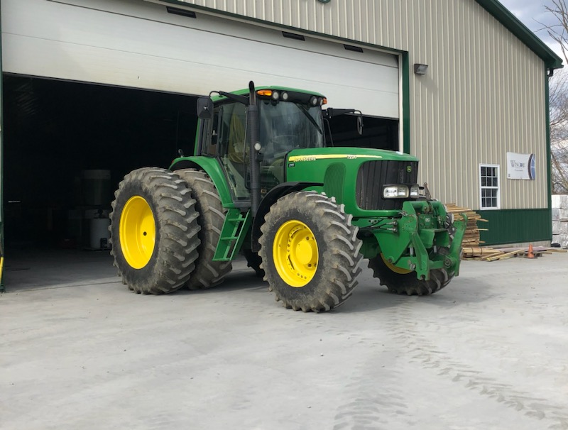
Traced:
<path fill-rule="evenodd" d="M 224 285 L 136 295 L 108 253 L 6 260 L 1 429 L 568 429 L 568 254 L 464 262 L 431 297 L 364 270 L 325 314 Z"/>

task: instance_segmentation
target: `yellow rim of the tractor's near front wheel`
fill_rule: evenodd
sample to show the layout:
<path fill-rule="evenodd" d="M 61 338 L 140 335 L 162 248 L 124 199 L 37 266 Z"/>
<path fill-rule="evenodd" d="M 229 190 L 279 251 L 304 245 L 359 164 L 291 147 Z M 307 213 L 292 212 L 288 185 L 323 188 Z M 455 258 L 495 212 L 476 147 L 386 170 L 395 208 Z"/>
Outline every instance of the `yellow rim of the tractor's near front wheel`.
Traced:
<path fill-rule="evenodd" d="M 276 232 L 273 246 L 278 275 L 292 287 L 304 287 L 317 270 L 319 254 L 314 233 L 302 221 L 287 221 Z"/>

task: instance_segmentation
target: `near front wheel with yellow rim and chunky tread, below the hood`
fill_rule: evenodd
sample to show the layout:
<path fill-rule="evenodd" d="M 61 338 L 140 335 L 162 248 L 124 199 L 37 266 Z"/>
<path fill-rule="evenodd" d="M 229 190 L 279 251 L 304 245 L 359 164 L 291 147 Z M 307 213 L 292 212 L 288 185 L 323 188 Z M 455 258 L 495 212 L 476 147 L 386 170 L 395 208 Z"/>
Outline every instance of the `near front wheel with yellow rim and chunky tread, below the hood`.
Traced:
<path fill-rule="evenodd" d="M 351 296 L 361 272 L 361 241 L 335 199 L 295 192 L 278 199 L 261 227 L 261 268 L 269 290 L 295 311 L 334 309 Z"/>

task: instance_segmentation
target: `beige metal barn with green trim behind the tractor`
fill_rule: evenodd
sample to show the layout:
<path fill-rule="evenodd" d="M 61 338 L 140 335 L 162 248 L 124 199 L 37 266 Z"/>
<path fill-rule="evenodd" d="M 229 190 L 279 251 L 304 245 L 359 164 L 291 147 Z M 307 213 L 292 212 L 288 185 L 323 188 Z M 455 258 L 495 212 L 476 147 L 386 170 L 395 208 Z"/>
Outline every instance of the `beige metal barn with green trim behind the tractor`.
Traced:
<path fill-rule="evenodd" d="M 359 109 L 334 136 L 420 158 L 420 182 L 550 243 L 548 79 L 562 60 L 496 0 L 2 0 L 1 241 L 105 248 L 124 175 L 190 153 L 195 102 L 257 84 Z"/>

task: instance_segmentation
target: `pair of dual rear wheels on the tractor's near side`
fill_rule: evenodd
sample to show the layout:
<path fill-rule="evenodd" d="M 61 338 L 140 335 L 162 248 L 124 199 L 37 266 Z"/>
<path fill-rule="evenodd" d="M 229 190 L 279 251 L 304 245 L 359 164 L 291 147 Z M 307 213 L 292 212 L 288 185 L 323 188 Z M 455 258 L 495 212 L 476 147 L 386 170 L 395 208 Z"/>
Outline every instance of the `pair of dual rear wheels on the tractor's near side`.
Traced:
<path fill-rule="evenodd" d="M 111 254 L 122 282 L 141 294 L 217 285 L 230 262 L 212 261 L 224 223 L 213 182 L 197 170 L 133 170 L 115 192 Z"/>

